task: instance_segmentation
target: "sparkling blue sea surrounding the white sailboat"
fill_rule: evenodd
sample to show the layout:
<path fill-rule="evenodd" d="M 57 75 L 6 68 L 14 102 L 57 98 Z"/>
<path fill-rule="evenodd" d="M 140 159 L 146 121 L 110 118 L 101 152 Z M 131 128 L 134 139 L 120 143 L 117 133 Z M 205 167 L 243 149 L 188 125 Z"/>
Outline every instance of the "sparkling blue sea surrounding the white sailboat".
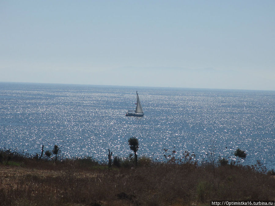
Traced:
<path fill-rule="evenodd" d="M 136 91 L 145 115 L 126 117 Z M 275 168 L 275 91 L 0 82 L 0 116 L 0 148 L 31 154 L 57 144 L 64 157 L 127 157 L 136 136 L 139 156 L 188 150 L 201 161 L 240 148 L 243 164 Z"/>

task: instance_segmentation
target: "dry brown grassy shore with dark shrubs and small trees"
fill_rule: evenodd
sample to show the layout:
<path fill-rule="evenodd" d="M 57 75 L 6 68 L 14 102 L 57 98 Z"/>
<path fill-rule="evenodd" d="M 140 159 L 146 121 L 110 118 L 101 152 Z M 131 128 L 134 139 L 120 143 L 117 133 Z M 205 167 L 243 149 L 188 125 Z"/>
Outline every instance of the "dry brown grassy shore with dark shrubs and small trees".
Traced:
<path fill-rule="evenodd" d="M 210 201 L 274 201 L 275 172 L 257 164 L 222 158 L 198 164 L 194 154 L 176 159 L 164 149 L 165 162 L 137 156 L 138 140 L 129 139 L 134 156 L 61 158 L 58 146 L 43 155 L 0 150 L 1 205 L 209 205 Z M 53 157 L 51 155 L 53 154 Z"/>

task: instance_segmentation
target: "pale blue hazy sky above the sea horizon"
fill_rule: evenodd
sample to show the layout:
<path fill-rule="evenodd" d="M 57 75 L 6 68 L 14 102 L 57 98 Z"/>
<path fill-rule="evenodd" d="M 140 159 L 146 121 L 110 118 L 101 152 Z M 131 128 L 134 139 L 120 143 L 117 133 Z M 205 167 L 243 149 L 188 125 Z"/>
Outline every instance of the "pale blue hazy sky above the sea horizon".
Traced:
<path fill-rule="evenodd" d="M 0 81 L 275 90 L 275 1 L 0 1 Z"/>

